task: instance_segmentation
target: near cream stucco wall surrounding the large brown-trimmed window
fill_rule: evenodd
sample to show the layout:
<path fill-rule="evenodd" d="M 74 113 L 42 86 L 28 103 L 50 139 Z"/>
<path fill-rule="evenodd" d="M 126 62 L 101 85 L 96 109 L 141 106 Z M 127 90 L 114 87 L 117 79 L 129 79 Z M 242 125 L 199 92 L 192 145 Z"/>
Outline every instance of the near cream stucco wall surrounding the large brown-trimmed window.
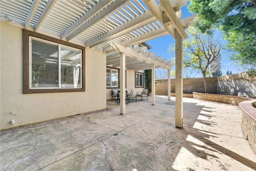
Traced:
<path fill-rule="evenodd" d="M 1 130 L 106 108 L 106 54 L 86 49 L 86 91 L 23 94 L 22 29 L 1 23 L 0 36 Z"/>

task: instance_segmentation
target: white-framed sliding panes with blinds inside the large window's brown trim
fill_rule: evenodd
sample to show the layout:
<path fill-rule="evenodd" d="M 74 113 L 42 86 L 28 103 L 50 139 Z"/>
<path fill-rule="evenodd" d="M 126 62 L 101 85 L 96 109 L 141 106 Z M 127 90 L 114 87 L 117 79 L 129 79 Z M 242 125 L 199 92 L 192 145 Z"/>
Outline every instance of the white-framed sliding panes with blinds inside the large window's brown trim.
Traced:
<path fill-rule="evenodd" d="M 30 36 L 30 89 L 82 88 L 82 50 Z"/>

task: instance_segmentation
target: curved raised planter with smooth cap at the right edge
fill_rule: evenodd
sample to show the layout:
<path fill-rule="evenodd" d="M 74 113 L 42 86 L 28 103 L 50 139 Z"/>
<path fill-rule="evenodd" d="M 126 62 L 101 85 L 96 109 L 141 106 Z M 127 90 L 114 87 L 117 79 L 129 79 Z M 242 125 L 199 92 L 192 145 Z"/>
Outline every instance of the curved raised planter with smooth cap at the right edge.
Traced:
<path fill-rule="evenodd" d="M 255 100 L 243 101 L 239 104 L 242 109 L 242 131 L 256 154 L 256 108 L 252 106 Z"/>

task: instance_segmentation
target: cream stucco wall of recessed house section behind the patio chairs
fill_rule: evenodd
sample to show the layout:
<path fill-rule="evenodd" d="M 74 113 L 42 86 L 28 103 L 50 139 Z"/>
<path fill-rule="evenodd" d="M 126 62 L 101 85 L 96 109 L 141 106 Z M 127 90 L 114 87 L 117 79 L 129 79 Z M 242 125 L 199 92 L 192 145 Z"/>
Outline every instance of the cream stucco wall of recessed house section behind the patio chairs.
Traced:
<path fill-rule="evenodd" d="M 143 72 L 143 71 L 139 71 L 139 72 Z M 119 89 L 119 88 L 116 88 L 116 89 Z M 141 92 L 142 89 L 143 88 L 135 88 L 135 72 L 133 70 L 126 70 L 126 90 L 128 92 L 132 90 L 133 93 L 136 94 L 136 92 Z M 107 100 L 112 98 L 111 89 L 107 89 L 106 96 L 107 96 Z"/>

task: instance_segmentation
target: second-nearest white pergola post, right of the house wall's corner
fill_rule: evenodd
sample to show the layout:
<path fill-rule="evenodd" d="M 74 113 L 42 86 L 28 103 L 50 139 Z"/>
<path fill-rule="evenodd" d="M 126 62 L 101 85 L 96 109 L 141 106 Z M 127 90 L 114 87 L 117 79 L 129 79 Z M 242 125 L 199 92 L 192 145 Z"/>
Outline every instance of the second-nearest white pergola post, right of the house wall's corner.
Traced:
<path fill-rule="evenodd" d="M 125 114 L 125 54 L 120 52 L 120 113 Z"/>

